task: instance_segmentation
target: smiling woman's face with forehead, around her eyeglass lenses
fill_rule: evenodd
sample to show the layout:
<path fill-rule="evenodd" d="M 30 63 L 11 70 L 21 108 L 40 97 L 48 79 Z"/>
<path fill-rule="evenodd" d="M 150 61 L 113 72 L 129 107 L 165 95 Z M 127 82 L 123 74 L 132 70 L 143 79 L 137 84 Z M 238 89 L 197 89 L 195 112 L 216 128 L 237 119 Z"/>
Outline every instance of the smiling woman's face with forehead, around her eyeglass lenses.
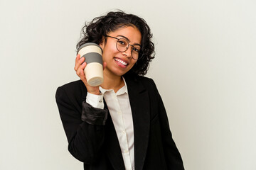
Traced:
<path fill-rule="evenodd" d="M 127 73 L 129 69 L 132 69 L 137 60 L 132 58 L 132 46 L 141 45 L 142 34 L 136 27 L 128 26 L 119 28 L 108 34 L 111 37 L 107 37 L 107 41 L 103 40 L 100 47 L 102 47 L 102 59 L 103 62 L 107 62 L 107 67 L 104 70 L 104 74 L 108 76 L 120 77 Z M 124 38 L 129 42 L 129 48 L 125 52 L 119 52 L 117 50 L 117 39 Z"/>

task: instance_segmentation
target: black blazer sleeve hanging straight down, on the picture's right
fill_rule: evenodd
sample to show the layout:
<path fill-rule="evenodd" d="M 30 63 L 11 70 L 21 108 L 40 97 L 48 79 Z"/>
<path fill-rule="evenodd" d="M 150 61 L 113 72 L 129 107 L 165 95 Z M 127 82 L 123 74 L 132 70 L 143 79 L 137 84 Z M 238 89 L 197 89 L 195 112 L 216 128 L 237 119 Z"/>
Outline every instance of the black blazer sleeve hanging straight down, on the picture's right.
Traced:
<path fill-rule="evenodd" d="M 154 81 L 153 81 L 154 84 Z M 158 101 L 159 108 L 159 121 L 161 126 L 161 137 L 164 147 L 164 155 L 166 158 L 166 164 L 168 169 L 176 169 L 183 170 L 183 161 L 181 158 L 181 154 L 178 152 L 178 148 L 172 138 L 171 130 L 169 128 L 169 120 L 166 114 L 166 109 L 164 107 L 164 103 L 161 99 L 159 91 L 156 88 L 156 84 L 154 84 L 154 90 L 156 93 L 156 98 Z"/>

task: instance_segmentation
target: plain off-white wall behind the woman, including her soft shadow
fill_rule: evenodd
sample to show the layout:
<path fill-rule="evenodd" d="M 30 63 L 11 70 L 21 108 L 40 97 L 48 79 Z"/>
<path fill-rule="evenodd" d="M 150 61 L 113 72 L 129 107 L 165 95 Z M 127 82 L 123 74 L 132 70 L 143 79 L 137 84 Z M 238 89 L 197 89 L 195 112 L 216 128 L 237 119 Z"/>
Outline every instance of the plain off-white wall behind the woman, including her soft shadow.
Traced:
<path fill-rule="evenodd" d="M 68 153 L 55 91 L 78 79 L 85 21 L 114 8 L 151 27 L 156 58 L 146 76 L 185 168 L 255 170 L 255 0 L 1 0 L 0 169 L 82 169 Z"/>

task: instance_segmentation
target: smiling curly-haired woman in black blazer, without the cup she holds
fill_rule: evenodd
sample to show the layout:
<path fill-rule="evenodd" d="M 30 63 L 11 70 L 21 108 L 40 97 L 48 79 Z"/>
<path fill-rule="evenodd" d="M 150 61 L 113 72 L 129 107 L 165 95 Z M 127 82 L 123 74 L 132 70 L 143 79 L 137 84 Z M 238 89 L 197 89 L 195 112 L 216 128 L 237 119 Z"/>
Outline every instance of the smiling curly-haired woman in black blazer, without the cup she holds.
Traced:
<path fill-rule="evenodd" d="M 56 92 L 69 152 L 84 169 L 183 169 L 161 96 L 154 81 L 143 77 L 154 58 L 149 26 L 117 11 L 82 30 L 77 48 L 86 42 L 102 47 L 104 81 L 87 84 L 85 59 L 78 55 L 80 80 Z"/>

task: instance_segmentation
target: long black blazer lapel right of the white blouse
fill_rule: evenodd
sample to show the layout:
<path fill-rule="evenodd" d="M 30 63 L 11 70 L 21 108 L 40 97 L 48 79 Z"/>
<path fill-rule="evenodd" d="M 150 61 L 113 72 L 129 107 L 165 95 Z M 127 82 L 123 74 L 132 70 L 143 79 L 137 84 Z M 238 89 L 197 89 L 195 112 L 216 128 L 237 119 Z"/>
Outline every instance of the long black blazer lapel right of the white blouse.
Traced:
<path fill-rule="evenodd" d="M 149 94 L 139 81 L 129 77 L 125 81 L 134 123 L 134 164 L 135 169 L 142 170 L 149 141 Z"/>

